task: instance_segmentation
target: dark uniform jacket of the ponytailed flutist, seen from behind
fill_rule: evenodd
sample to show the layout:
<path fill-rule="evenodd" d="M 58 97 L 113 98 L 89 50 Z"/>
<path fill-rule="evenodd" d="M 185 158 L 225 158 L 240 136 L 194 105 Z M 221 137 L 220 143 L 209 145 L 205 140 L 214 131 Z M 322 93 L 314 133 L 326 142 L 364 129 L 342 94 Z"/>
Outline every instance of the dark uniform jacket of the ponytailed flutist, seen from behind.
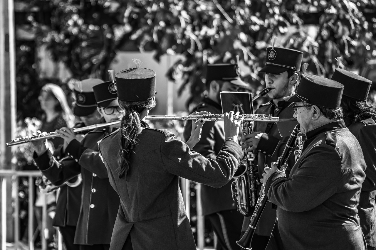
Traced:
<path fill-rule="evenodd" d="M 110 249 L 122 249 L 130 236 L 134 250 L 196 250 L 179 176 L 222 187 L 237 169 L 241 147 L 226 140 L 214 161 L 191 152 L 168 131 L 144 128 L 130 155 L 125 179 L 116 172 L 119 140 L 120 133 L 114 133 L 99 145 L 111 185 L 120 196 Z"/>

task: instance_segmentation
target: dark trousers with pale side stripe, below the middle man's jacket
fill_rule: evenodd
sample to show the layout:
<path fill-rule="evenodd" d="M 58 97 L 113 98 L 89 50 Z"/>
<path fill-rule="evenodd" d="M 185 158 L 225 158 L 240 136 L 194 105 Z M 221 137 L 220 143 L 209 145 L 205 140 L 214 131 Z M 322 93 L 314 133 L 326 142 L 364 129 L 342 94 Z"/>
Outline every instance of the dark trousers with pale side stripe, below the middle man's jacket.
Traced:
<path fill-rule="evenodd" d="M 217 235 L 216 250 L 239 249 L 236 243 L 240 239 L 244 216 L 237 210 L 225 210 L 206 215 Z"/>

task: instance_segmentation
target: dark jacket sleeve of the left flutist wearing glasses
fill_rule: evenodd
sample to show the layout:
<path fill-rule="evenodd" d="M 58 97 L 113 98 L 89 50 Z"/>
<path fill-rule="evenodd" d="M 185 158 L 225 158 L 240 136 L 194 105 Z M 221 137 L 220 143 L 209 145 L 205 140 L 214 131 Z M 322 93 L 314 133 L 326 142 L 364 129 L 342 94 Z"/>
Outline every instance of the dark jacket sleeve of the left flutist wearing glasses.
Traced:
<path fill-rule="evenodd" d="M 99 178 L 108 178 L 107 169 L 98 151 L 86 148 L 77 140 L 72 140 L 65 149 L 65 153 Z"/>

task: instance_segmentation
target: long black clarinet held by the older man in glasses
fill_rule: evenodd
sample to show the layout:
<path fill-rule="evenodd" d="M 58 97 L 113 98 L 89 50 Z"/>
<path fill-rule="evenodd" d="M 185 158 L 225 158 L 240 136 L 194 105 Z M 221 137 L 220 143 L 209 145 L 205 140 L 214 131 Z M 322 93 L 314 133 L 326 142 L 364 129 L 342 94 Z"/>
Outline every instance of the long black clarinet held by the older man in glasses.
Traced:
<path fill-rule="evenodd" d="M 282 155 L 278 157 L 278 160 L 276 163 L 278 169 L 280 169 L 285 163 L 287 163 L 288 157 L 293 151 L 296 138 L 299 134 L 299 130 L 300 130 L 300 125 L 298 124 L 295 126 L 293 133 L 291 133 L 291 136 L 286 143 L 286 146 Z M 267 202 L 268 202 L 268 197 L 264 192 L 264 194 L 262 194 L 262 196 L 257 201 L 255 211 L 253 212 L 252 217 L 250 219 L 249 227 L 247 228 L 243 237 L 241 237 L 241 239 L 237 241 L 237 244 L 240 245 L 241 247 L 248 249 L 248 250 L 252 250 L 251 243 L 252 243 L 253 234 L 255 233 L 257 223 L 260 220 L 262 211 L 264 211 L 264 208 Z"/>

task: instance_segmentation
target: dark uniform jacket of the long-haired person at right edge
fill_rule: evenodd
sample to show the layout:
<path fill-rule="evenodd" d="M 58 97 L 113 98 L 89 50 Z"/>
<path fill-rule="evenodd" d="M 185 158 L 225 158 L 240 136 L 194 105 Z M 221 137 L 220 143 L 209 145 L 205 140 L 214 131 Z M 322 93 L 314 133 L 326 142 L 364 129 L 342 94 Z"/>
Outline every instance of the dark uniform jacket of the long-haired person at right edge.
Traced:
<path fill-rule="evenodd" d="M 358 139 L 367 165 L 358 205 L 360 226 L 367 245 L 376 247 L 376 123 L 369 118 L 347 127 Z"/>

